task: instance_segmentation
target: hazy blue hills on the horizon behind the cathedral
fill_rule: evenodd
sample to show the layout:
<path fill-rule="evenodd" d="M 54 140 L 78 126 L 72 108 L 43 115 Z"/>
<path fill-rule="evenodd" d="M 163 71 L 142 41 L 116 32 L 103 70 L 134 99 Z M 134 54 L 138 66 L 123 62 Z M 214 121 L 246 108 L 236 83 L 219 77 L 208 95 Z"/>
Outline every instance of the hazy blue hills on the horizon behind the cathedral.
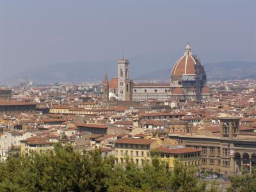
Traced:
<path fill-rule="evenodd" d="M 163 65 L 155 63 L 167 63 L 168 58 L 163 60 L 151 60 L 152 58 L 133 58 L 131 61 L 131 77 L 134 80 L 159 80 L 170 79 L 171 67 L 166 70 L 157 70 Z M 166 66 L 166 64 L 164 64 Z M 19 83 L 25 79 L 31 79 L 36 83 L 58 83 L 58 82 L 92 82 L 102 81 L 103 74 L 107 68 L 108 77 L 115 77 L 116 61 L 93 61 L 76 63 L 57 63 L 46 67 L 33 68 L 19 72 L 8 79 L 1 81 L 5 83 Z M 221 63 L 206 63 L 205 72 L 208 80 L 227 79 L 256 79 L 256 62 L 227 61 Z"/>

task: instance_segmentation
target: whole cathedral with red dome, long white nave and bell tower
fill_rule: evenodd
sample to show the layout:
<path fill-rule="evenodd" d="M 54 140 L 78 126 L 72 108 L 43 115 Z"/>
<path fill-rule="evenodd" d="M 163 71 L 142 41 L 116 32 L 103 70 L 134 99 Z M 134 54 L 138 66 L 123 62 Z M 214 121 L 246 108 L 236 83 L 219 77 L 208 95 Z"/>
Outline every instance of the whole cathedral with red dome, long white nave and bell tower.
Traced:
<path fill-rule="evenodd" d="M 170 83 L 132 83 L 129 79 L 129 60 L 118 60 L 117 67 L 117 77 L 108 81 L 107 74 L 104 76 L 104 101 L 155 99 L 188 102 L 202 101 L 212 96 L 210 88 L 206 86 L 204 65 L 193 56 L 189 42 L 170 72 Z"/>

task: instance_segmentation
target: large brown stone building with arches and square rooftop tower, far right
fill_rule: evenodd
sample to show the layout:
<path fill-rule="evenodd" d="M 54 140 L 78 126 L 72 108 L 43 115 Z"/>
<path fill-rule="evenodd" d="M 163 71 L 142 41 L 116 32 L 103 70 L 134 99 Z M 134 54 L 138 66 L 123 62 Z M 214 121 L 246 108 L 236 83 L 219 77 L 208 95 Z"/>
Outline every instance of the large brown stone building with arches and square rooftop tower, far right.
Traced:
<path fill-rule="evenodd" d="M 220 136 L 193 136 L 169 134 L 179 145 L 201 150 L 202 170 L 218 172 L 223 177 L 240 173 L 242 168 L 252 173 L 256 166 L 255 136 L 243 137 L 239 130 L 239 118 L 220 118 Z"/>

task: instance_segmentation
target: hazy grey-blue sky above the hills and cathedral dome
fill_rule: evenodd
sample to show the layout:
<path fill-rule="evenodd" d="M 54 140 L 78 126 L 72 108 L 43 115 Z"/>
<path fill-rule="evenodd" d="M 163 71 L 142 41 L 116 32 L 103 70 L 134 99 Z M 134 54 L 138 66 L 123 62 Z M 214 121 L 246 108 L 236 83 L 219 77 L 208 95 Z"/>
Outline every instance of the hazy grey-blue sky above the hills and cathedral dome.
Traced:
<path fill-rule="evenodd" d="M 192 51 L 256 61 L 256 1 L 0 0 L 0 76 L 70 61 Z M 161 68 L 162 69 L 162 68 Z"/>

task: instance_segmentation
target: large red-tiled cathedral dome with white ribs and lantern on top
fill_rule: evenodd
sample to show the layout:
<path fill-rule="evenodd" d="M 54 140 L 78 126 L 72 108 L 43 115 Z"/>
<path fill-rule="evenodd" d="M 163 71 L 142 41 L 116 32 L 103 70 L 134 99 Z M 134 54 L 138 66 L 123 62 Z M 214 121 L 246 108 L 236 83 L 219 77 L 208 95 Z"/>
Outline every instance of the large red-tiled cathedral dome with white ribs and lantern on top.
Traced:
<path fill-rule="evenodd" d="M 192 55 L 189 42 L 187 42 L 184 55 L 175 63 L 172 68 L 171 78 L 177 79 L 185 74 L 196 75 L 196 63 L 200 62 L 198 62 L 196 58 Z M 202 70 L 204 70 L 204 68 L 200 66 L 199 72 Z"/>

